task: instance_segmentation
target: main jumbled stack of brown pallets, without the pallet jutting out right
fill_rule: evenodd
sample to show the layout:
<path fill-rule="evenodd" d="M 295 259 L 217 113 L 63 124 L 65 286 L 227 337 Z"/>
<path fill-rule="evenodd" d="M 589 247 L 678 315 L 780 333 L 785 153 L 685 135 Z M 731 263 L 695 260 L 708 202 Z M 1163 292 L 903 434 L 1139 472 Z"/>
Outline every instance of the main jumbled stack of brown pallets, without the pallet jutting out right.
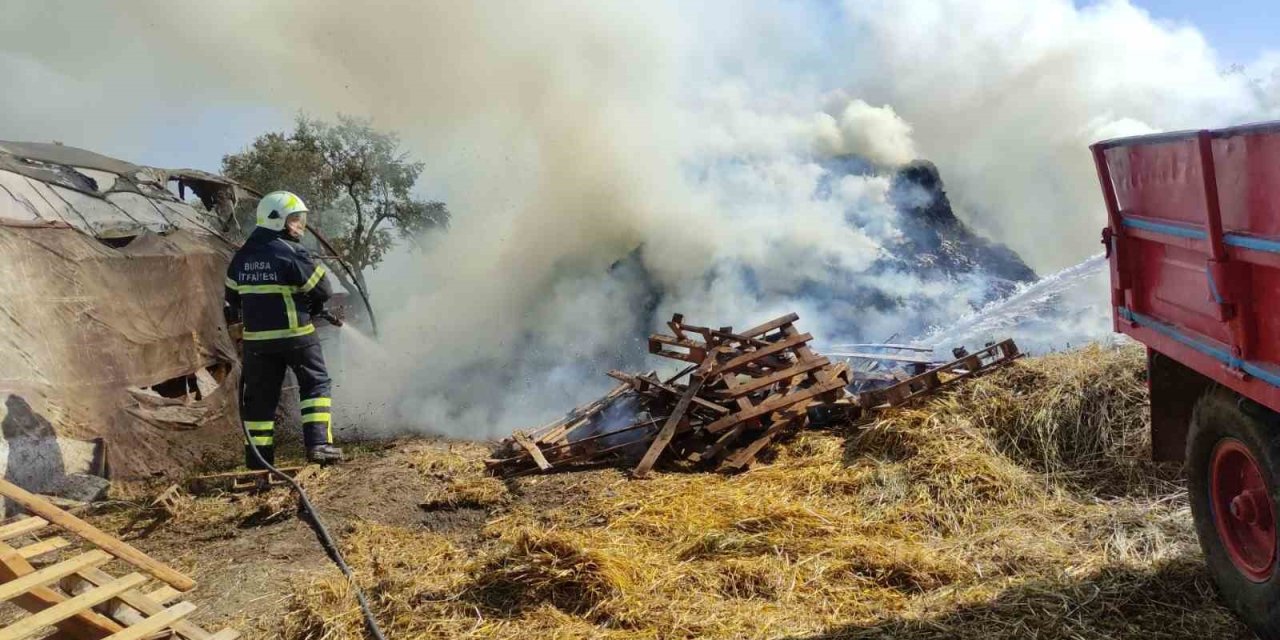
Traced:
<path fill-rule="evenodd" d="M 849 366 L 814 353 L 813 337 L 800 333 L 796 320 L 790 314 L 735 333 L 687 324 L 677 314 L 667 323 L 671 334 L 648 342 L 650 353 L 686 362 L 682 371 L 667 380 L 609 371 L 622 384 L 566 419 L 517 431 L 494 451 L 489 467 L 511 476 L 635 454 L 632 475 L 644 477 L 669 454 L 723 471 L 746 468 L 806 424 L 806 407 L 845 396 Z M 630 416 L 609 411 L 620 402 L 635 407 Z"/>

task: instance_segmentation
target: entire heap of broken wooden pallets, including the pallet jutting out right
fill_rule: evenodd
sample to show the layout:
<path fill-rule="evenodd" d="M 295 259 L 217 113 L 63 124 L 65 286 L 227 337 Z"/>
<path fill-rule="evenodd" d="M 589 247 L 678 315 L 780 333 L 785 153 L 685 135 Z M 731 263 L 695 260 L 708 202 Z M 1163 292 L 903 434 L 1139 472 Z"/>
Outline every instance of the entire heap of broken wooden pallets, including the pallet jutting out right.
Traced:
<path fill-rule="evenodd" d="M 900 406 L 1019 356 L 1005 340 L 975 353 L 957 351 L 948 364 L 890 353 L 833 361 L 809 347 L 813 335 L 796 329 L 796 320 L 790 314 L 735 332 L 687 324 L 676 314 L 667 323 L 671 334 L 649 337 L 649 352 L 686 362 L 684 370 L 668 379 L 609 371 L 621 383 L 613 390 L 534 433 L 516 431 L 489 468 L 512 476 L 639 458 L 634 475 L 644 477 L 667 454 L 718 471 L 745 470 L 812 421 Z"/>

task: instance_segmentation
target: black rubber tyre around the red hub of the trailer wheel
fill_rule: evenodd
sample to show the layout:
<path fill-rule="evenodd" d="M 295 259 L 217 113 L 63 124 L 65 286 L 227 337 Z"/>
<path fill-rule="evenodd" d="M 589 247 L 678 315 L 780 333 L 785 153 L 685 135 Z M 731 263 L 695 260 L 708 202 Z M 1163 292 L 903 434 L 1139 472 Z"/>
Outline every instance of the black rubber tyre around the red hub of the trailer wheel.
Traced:
<path fill-rule="evenodd" d="M 1245 403 L 1244 407 L 1242 402 Z M 1234 393 L 1216 389 L 1196 403 L 1187 439 L 1187 488 L 1192 515 L 1196 517 L 1196 534 L 1204 550 L 1210 573 L 1226 605 L 1262 640 L 1280 640 L 1280 571 L 1276 568 L 1280 567 L 1280 561 L 1272 564 L 1271 575 L 1262 581 L 1249 579 L 1231 561 L 1213 522 L 1210 463 L 1224 439 L 1234 438 L 1245 445 L 1257 461 L 1271 498 L 1271 513 L 1276 520 L 1272 532 L 1276 531 L 1280 527 L 1280 508 L 1276 506 L 1276 486 L 1280 486 L 1280 425 L 1276 422 L 1268 410 L 1242 401 Z"/>

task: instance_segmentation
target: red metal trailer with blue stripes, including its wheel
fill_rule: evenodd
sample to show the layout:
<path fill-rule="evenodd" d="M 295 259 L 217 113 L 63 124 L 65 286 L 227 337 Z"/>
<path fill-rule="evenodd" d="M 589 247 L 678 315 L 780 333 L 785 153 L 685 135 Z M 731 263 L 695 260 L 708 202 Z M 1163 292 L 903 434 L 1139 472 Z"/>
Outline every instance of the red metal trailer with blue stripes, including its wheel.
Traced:
<path fill-rule="evenodd" d="M 1147 346 L 1222 598 L 1280 637 L 1280 123 L 1094 145 L 1115 329 Z"/>

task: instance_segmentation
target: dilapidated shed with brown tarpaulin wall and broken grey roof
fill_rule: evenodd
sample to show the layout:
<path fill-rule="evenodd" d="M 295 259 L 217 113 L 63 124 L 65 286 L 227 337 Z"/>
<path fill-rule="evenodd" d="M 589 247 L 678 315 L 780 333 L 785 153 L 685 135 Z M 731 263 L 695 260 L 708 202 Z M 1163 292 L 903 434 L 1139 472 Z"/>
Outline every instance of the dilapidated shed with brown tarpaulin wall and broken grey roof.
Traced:
<path fill-rule="evenodd" d="M 38 490 L 88 471 L 101 443 L 115 477 L 241 456 L 239 365 L 221 314 L 233 247 L 155 175 L 72 147 L 0 142 L 0 472 L 10 480 Z M 148 390 L 197 372 L 198 393 Z"/>

